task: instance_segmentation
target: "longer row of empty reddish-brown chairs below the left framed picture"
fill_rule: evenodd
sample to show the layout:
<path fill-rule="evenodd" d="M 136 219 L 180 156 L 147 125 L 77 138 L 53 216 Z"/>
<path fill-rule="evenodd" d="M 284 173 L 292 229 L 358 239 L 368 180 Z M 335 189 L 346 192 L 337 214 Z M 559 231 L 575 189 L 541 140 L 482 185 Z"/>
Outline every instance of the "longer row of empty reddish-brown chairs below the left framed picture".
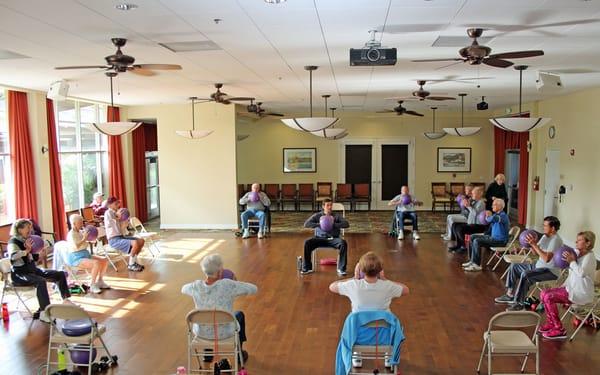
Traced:
<path fill-rule="evenodd" d="M 250 184 L 238 184 L 238 199 L 250 188 Z M 316 189 L 312 183 L 261 184 L 261 190 L 271 199 L 271 209 L 281 211 L 285 210 L 286 204 L 293 204 L 294 211 L 301 211 L 302 205 L 310 205 L 311 211 L 315 211 L 327 198 L 342 204 L 348 203 L 352 211 L 361 203 L 365 203 L 368 210 L 371 209 L 370 184 L 336 184 L 335 191 L 331 182 L 317 182 Z"/>

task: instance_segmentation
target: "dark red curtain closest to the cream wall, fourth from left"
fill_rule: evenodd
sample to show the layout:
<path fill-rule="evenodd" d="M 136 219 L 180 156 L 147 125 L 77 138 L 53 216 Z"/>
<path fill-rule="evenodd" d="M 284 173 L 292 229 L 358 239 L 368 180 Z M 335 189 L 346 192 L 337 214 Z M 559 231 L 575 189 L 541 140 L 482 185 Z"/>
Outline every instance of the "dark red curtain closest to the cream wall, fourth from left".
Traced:
<path fill-rule="evenodd" d="M 142 222 L 148 220 L 146 199 L 146 124 L 132 133 L 133 140 L 133 180 L 135 190 L 135 214 Z"/>

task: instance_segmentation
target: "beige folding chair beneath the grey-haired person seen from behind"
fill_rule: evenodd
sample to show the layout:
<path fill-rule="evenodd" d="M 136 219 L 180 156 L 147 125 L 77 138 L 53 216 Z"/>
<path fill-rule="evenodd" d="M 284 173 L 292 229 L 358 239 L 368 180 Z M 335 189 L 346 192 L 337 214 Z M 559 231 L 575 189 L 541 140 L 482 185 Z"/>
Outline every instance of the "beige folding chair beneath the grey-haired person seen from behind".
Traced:
<path fill-rule="evenodd" d="M 203 368 L 202 357 L 206 356 L 204 349 L 210 349 L 210 356 L 218 358 L 224 356 L 231 359 L 231 370 L 221 370 L 221 373 L 237 374 L 238 361 L 240 367 L 244 367 L 242 348 L 239 338 L 240 327 L 230 312 L 223 310 L 192 310 L 185 317 L 188 327 L 188 373 L 189 374 L 213 374 L 214 370 Z M 219 338 L 219 330 L 233 325 L 233 335 Z M 197 332 L 206 331 L 212 333 L 213 338 L 198 336 Z M 214 336 L 217 336 L 216 338 Z M 198 368 L 192 367 L 192 358 L 198 361 Z"/>

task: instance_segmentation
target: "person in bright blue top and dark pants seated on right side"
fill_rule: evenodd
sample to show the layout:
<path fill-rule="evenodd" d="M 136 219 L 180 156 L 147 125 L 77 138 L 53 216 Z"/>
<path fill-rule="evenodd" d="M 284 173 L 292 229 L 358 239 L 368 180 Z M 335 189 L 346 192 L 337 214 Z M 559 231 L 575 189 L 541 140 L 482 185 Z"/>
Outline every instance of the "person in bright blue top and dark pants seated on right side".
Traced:
<path fill-rule="evenodd" d="M 492 202 L 492 211 L 486 211 L 485 219 L 490 224 L 491 234 L 474 234 L 471 236 L 471 257 L 468 262 L 462 265 L 465 271 L 481 271 L 482 247 L 505 246 L 508 241 L 510 223 L 508 215 L 504 212 L 504 201 L 500 198 L 494 199 Z"/>

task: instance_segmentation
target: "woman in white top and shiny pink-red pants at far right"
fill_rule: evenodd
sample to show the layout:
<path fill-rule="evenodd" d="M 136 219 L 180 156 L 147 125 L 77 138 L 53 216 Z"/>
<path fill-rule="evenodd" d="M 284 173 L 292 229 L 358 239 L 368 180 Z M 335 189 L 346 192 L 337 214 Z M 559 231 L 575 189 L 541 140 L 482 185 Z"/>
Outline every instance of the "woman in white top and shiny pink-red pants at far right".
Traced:
<path fill-rule="evenodd" d="M 540 299 L 546 309 L 546 323 L 539 331 L 547 339 L 564 339 L 567 337 L 560 317 L 558 304 L 585 305 L 594 299 L 594 273 L 596 271 L 596 258 L 594 257 L 594 244 L 596 235 L 585 231 L 577 234 L 575 252 L 577 257 L 568 252 L 563 253 L 563 259 L 569 263 L 569 276 L 559 288 L 543 290 Z"/>

